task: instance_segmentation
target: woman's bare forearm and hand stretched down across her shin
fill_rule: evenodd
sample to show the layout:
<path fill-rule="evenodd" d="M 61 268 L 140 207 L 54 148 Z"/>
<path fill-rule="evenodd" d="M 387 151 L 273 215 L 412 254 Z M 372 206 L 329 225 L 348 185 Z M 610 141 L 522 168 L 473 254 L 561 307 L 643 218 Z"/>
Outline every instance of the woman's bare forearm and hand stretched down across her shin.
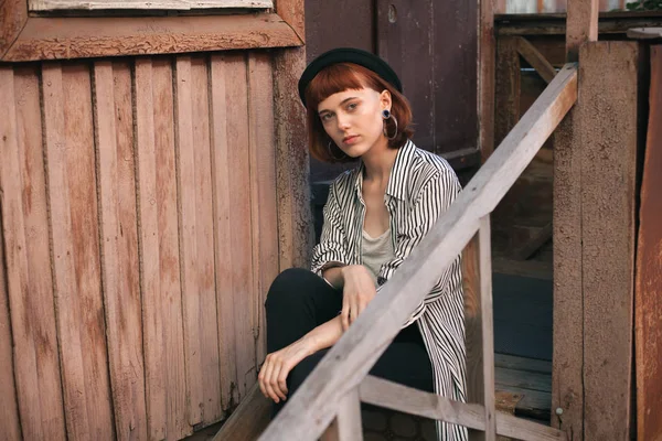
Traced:
<path fill-rule="evenodd" d="M 342 333 L 341 316 L 338 315 L 289 346 L 267 355 L 257 377 L 264 396 L 276 402 L 285 401 L 288 392 L 286 379 L 290 370 L 303 358 L 333 346 Z"/>

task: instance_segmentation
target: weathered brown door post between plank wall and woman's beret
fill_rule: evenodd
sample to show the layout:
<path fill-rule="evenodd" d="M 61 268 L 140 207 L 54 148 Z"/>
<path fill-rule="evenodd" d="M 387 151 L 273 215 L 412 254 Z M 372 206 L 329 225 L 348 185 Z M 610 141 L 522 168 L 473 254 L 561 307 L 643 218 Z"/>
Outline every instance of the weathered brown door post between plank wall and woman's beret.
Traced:
<path fill-rule="evenodd" d="M 314 244 L 310 209 L 309 153 L 303 106 L 297 82 L 306 67 L 306 52 L 288 49 L 274 55 L 276 125 L 276 192 L 280 270 L 308 268 Z"/>

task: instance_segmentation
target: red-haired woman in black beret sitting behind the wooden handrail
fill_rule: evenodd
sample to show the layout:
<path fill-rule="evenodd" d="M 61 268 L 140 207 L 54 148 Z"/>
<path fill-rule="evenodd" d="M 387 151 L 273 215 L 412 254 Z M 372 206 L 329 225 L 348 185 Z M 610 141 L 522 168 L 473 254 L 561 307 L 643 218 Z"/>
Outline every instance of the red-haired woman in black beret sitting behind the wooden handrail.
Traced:
<path fill-rule="evenodd" d="M 301 75 L 299 94 L 312 155 L 360 162 L 329 190 L 312 271 L 286 270 L 269 289 L 269 355 L 258 381 L 276 411 L 460 191 L 448 163 L 409 140 L 409 104 L 397 75 L 381 58 L 354 49 L 327 52 Z M 465 372 L 458 256 L 371 375 L 465 401 Z M 453 424 L 439 422 L 437 431 L 440 440 L 467 439 L 466 429 Z"/>

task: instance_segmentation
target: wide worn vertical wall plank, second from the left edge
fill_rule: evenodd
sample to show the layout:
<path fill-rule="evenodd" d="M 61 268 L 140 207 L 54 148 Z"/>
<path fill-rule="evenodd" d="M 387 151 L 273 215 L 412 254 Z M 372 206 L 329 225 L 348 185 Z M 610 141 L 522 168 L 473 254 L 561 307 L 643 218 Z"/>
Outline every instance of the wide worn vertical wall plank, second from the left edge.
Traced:
<path fill-rule="evenodd" d="M 114 437 L 100 262 L 89 71 L 43 66 L 49 201 L 68 438 Z"/>

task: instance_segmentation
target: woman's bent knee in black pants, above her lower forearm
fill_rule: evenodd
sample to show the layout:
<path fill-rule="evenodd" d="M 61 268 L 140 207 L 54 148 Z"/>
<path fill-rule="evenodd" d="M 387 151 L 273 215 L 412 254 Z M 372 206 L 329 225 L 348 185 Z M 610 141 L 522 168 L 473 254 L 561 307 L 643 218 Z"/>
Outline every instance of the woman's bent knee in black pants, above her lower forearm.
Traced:
<path fill-rule="evenodd" d="M 306 269 L 282 271 L 271 283 L 265 302 L 267 352 L 296 342 L 342 309 L 342 292 Z"/>

